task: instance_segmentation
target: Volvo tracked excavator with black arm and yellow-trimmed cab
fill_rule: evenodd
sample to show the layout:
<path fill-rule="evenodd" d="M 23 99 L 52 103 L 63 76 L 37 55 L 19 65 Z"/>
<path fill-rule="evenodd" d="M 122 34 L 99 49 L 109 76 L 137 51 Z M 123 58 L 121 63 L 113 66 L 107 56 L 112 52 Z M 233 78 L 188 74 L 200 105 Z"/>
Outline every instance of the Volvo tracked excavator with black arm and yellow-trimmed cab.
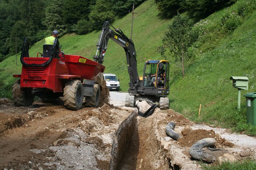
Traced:
<path fill-rule="evenodd" d="M 113 28 L 111 29 L 110 26 Z M 169 108 L 169 61 L 147 60 L 143 75 L 138 76 L 136 51 L 133 41 L 125 36 L 121 29 L 113 27 L 106 21 L 102 27 L 94 61 L 102 64 L 109 39 L 125 49 L 128 74 L 130 76 L 130 95 L 126 96 L 125 105 L 133 107 L 136 101 L 159 103 L 160 109 Z"/>

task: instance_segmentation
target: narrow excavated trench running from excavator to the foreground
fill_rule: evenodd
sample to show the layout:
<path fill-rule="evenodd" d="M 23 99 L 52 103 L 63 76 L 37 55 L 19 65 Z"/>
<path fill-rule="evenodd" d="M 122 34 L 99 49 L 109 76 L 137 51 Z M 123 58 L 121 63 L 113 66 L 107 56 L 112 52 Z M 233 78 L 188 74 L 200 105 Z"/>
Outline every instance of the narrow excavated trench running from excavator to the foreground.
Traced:
<path fill-rule="evenodd" d="M 149 105 L 141 105 L 147 110 Z M 149 106 L 150 107 L 150 106 Z M 157 109 L 159 110 L 159 109 Z M 111 170 L 168 170 L 167 152 L 155 133 L 155 117 L 140 117 L 137 110 L 120 125 L 112 145 Z"/>

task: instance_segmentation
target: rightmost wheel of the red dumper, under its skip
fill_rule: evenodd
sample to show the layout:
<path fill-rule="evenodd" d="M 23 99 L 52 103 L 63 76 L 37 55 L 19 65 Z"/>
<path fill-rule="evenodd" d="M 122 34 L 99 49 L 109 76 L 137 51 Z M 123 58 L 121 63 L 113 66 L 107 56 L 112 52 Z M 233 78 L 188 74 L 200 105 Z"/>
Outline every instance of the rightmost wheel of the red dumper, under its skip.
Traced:
<path fill-rule="evenodd" d="M 98 107 L 100 102 L 100 85 L 93 85 L 93 95 L 87 96 L 85 100 L 85 105 L 90 107 Z"/>

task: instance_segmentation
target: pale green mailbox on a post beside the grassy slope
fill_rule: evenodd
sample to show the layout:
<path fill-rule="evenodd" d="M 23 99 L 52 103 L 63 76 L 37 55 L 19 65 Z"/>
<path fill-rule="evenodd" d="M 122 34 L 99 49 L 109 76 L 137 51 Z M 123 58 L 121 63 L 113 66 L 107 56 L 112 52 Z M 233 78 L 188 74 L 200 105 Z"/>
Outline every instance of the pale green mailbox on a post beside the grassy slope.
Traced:
<path fill-rule="evenodd" d="M 238 89 L 237 109 L 240 109 L 241 89 L 242 90 L 248 90 L 249 78 L 240 77 L 240 76 L 231 76 L 230 80 L 233 80 L 233 87 Z"/>

